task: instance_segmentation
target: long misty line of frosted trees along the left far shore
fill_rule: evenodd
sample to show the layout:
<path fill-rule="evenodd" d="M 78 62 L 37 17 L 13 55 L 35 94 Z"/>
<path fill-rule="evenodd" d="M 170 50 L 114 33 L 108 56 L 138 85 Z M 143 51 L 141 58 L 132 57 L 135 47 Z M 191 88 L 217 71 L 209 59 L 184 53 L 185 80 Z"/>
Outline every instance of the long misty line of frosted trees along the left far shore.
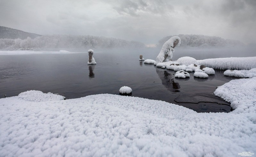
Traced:
<path fill-rule="evenodd" d="M 145 44 L 137 41 L 106 38 L 90 35 L 43 35 L 34 39 L 0 39 L 0 49 L 19 48 L 142 48 Z"/>

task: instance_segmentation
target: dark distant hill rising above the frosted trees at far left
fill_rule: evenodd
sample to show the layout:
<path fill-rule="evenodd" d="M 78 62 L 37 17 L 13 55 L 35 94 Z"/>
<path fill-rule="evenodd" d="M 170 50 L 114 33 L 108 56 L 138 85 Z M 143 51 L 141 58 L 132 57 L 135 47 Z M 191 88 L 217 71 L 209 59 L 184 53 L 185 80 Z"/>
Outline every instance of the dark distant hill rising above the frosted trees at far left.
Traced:
<path fill-rule="evenodd" d="M 40 36 L 41 35 L 39 34 L 24 32 L 21 30 L 0 26 L 0 39 L 26 39 L 27 37 L 34 39 Z"/>

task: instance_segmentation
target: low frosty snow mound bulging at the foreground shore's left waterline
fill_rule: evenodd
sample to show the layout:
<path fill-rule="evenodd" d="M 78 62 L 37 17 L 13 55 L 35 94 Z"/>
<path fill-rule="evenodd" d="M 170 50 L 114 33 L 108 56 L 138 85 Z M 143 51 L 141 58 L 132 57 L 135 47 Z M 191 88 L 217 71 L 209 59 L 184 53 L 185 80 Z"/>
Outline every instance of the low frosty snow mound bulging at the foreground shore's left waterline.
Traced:
<path fill-rule="evenodd" d="M 20 93 L 18 99 L 30 102 L 44 102 L 44 101 L 57 101 L 64 100 L 64 96 L 56 95 L 51 92 L 43 93 L 38 90 L 29 90 L 26 92 Z"/>

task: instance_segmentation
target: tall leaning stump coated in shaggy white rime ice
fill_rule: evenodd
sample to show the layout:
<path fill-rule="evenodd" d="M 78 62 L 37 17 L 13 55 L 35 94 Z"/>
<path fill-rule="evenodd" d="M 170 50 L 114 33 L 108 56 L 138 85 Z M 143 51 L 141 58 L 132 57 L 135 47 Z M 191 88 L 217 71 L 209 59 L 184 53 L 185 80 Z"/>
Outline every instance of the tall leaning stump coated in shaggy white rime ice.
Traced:
<path fill-rule="evenodd" d="M 171 59 L 172 53 L 174 52 L 174 47 L 176 45 L 179 46 L 180 42 L 181 42 L 181 40 L 178 36 L 173 36 L 169 40 L 167 40 L 163 44 L 160 53 L 156 57 L 156 61 L 155 61 L 154 65 L 161 63 L 161 62 L 166 62 L 166 61 L 168 61 L 167 59 Z"/>

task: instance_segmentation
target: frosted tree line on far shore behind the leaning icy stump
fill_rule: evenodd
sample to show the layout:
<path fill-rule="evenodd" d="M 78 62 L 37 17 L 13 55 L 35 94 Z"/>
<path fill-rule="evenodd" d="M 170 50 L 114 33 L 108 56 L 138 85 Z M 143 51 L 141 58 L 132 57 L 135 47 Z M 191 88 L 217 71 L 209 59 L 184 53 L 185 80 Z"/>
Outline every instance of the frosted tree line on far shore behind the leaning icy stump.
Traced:
<path fill-rule="evenodd" d="M 244 43 L 238 40 L 223 39 L 215 36 L 197 35 L 197 34 L 179 34 L 182 47 L 234 47 L 244 46 Z M 162 46 L 172 36 L 166 36 L 159 40 L 158 46 Z"/>

